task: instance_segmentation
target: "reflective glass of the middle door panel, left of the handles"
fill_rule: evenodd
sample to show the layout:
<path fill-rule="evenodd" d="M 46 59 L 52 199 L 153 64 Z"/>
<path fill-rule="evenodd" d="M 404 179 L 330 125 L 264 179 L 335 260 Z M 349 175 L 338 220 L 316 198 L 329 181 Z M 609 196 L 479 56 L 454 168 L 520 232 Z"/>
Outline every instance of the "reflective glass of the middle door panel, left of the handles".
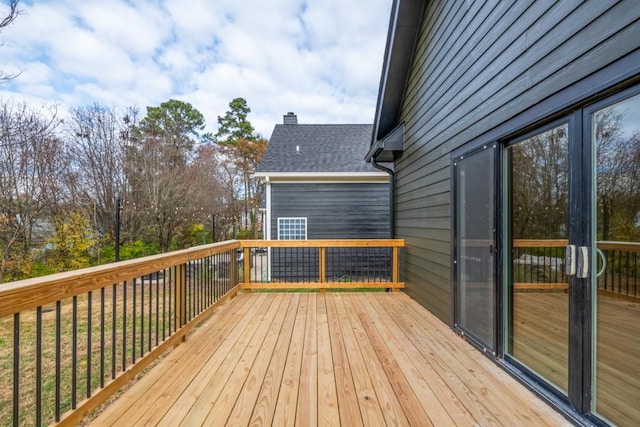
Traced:
<path fill-rule="evenodd" d="M 506 353 L 568 391 L 566 124 L 506 149 Z"/>

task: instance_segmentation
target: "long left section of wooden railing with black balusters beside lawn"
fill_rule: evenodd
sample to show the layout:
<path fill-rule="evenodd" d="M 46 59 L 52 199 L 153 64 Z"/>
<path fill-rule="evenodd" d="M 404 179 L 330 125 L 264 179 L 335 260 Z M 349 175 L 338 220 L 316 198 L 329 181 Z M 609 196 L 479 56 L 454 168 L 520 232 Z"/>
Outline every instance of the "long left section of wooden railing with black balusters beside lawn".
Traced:
<path fill-rule="evenodd" d="M 235 294 L 239 247 L 0 285 L 2 424 L 77 424 Z"/>

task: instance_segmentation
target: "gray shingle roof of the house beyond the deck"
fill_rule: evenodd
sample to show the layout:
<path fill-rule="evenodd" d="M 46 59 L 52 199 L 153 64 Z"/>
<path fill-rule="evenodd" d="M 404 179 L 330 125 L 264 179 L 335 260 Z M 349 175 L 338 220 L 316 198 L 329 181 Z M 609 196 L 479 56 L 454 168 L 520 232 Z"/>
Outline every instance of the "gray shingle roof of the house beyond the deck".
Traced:
<path fill-rule="evenodd" d="M 278 124 L 258 172 L 375 172 L 364 161 L 372 130 L 360 124 Z"/>

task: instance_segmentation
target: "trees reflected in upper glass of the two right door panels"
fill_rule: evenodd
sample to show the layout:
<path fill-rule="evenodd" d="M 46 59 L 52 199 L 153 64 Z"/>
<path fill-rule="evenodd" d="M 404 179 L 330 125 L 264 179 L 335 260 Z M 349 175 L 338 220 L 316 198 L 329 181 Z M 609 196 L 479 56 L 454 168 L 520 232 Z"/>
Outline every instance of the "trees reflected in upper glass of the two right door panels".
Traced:
<path fill-rule="evenodd" d="M 615 106 L 614 106 L 615 107 Z M 640 241 L 640 129 L 619 108 L 593 115 L 597 240 Z M 514 238 L 566 239 L 569 221 L 568 126 L 510 148 Z"/>

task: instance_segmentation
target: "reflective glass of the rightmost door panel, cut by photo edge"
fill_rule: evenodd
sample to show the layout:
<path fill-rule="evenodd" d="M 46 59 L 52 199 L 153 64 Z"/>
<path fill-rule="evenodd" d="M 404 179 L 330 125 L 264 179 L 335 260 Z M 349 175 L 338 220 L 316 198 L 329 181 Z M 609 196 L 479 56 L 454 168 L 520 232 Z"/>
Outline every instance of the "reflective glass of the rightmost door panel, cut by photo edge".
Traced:
<path fill-rule="evenodd" d="M 640 95 L 590 115 L 595 412 L 640 422 Z M 597 292 L 595 292 L 597 290 Z"/>

